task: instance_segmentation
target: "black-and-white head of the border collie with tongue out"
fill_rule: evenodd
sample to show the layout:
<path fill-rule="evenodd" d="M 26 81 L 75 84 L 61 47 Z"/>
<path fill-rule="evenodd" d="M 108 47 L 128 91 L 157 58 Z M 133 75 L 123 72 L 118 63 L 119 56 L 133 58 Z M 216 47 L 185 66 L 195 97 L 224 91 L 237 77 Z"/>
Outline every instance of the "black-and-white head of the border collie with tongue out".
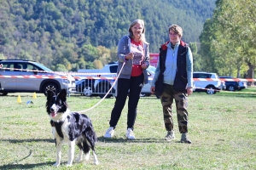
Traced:
<path fill-rule="evenodd" d="M 55 95 L 54 92 L 47 92 L 46 111 L 51 117 L 57 116 L 58 113 L 67 111 L 67 90 L 62 89 L 60 94 Z"/>

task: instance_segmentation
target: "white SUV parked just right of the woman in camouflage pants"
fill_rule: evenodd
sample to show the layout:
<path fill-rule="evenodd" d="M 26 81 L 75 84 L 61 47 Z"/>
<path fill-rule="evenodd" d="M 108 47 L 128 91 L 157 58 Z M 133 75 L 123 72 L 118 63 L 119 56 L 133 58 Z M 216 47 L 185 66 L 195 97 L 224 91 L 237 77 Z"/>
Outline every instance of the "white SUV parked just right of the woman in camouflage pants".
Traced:
<path fill-rule="evenodd" d="M 207 81 L 211 78 L 211 81 Z M 193 72 L 195 84 L 195 92 L 206 92 L 207 94 L 216 94 L 222 89 L 225 89 L 225 82 L 218 79 L 218 74 L 213 72 Z"/>

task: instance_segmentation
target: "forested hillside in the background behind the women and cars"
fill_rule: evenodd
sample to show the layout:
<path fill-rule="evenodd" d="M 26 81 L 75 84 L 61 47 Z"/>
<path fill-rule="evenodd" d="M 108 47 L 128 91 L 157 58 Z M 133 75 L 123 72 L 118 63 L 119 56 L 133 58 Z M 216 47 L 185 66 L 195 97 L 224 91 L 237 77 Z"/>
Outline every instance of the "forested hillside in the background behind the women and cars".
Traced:
<path fill-rule="evenodd" d="M 101 68 L 116 60 L 119 38 L 143 19 L 150 53 L 183 27 L 183 41 L 199 42 L 214 0 L 1 0 L 0 59 L 32 59 L 54 71 Z"/>

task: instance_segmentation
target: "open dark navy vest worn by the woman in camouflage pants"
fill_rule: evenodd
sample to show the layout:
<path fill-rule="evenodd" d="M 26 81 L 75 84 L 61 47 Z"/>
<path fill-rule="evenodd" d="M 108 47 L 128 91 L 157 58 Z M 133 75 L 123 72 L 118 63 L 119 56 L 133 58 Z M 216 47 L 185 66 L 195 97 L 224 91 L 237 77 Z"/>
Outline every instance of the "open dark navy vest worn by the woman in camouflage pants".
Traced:
<path fill-rule="evenodd" d="M 187 62 L 186 55 L 188 52 L 188 46 L 184 42 L 180 42 L 177 49 L 177 71 L 174 79 L 174 83 L 172 88 L 186 93 L 186 87 L 188 84 L 188 76 L 187 76 Z M 160 48 L 160 75 L 155 82 L 155 91 L 156 95 L 161 95 L 163 92 L 163 80 L 164 80 L 164 71 L 166 70 L 166 53 L 167 48 L 163 49 L 163 46 Z"/>

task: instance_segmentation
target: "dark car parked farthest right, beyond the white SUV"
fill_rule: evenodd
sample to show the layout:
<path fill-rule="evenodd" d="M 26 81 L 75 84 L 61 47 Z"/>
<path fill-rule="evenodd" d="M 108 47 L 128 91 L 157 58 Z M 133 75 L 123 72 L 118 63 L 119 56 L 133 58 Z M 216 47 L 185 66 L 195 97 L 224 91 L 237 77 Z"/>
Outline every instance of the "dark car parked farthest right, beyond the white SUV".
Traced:
<path fill-rule="evenodd" d="M 226 84 L 226 90 L 229 91 L 235 91 L 235 90 L 241 90 L 244 88 L 247 88 L 247 83 L 242 81 L 235 81 L 234 77 L 219 77 L 223 81 L 225 81 Z"/>

